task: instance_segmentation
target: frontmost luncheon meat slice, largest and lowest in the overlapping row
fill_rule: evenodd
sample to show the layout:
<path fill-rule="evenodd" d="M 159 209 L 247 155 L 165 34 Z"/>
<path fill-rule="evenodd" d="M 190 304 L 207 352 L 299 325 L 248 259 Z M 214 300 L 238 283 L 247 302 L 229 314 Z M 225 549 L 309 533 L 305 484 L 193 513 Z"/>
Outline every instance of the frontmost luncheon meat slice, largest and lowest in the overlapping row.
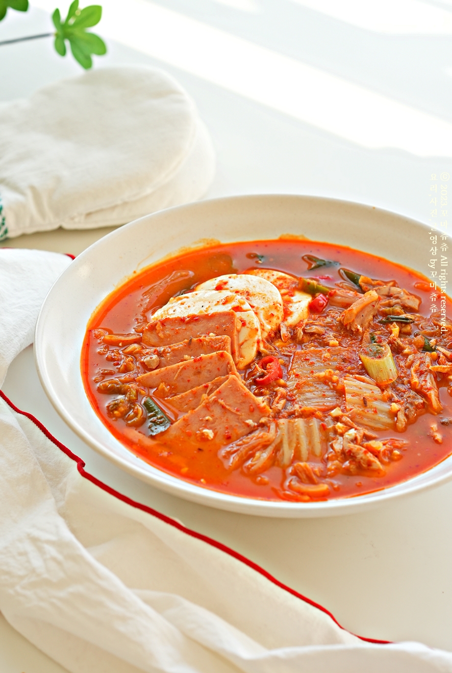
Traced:
<path fill-rule="evenodd" d="M 165 444 L 182 440 L 201 446 L 208 444 L 210 450 L 218 450 L 247 435 L 269 413 L 269 407 L 259 401 L 240 378 L 229 376 L 196 409 L 162 433 L 162 439 Z"/>

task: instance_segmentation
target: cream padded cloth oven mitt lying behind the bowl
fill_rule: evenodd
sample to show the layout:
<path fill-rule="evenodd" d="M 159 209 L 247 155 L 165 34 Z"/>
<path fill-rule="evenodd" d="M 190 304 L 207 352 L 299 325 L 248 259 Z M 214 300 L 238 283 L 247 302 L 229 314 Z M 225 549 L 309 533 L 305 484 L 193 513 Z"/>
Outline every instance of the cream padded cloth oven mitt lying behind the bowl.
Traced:
<path fill-rule="evenodd" d="M 214 167 L 195 104 L 163 71 L 99 68 L 58 81 L 0 104 L 0 240 L 195 201 Z"/>

